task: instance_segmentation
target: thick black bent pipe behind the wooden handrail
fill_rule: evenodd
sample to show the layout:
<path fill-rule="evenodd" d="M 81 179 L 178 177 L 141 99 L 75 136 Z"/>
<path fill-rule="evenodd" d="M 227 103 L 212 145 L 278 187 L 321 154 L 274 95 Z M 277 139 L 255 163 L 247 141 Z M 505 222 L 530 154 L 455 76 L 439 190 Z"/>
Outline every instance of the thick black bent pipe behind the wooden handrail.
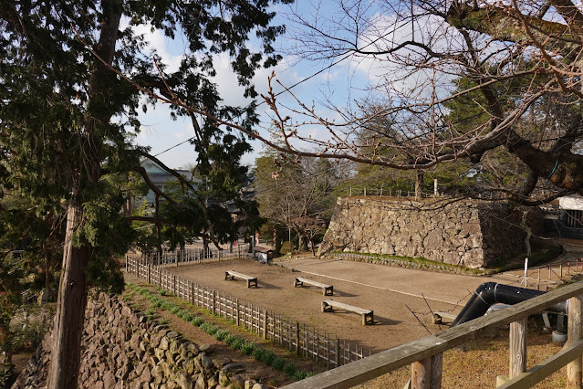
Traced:
<path fill-rule="evenodd" d="M 513 305 L 545 293 L 539 290 L 511 287 L 497 282 L 485 282 L 475 289 L 474 295 L 457 315 L 452 327 L 484 316 L 486 310 L 495 304 Z M 567 301 L 559 302 L 545 310 L 567 314 Z"/>

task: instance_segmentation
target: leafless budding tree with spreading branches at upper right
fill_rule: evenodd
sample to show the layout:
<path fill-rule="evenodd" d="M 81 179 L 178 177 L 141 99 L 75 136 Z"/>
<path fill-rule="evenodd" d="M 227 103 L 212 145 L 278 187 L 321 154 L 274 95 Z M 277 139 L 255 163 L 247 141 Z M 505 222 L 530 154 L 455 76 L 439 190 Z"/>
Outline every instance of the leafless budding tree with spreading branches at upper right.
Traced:
<path fill-rule="evenodd" d="M 278 150 L 420 171 L 458 160 L 502 171 L 492 154 L 504 152 L 523 167 L 520 187 L 507 191 L 521 203 L 583 187 L 583 14 L 571 1 L 332 0 L 289 17 L 306 60 L 374 64 L 370 93 L 385 104 L 336 106 L 332 121 L 293 89 L 294 106 L 272 89 Z M 386 118 L 386 131 L 357 136 Z M 324 135 L 310 135 L 314 126 Z"/>

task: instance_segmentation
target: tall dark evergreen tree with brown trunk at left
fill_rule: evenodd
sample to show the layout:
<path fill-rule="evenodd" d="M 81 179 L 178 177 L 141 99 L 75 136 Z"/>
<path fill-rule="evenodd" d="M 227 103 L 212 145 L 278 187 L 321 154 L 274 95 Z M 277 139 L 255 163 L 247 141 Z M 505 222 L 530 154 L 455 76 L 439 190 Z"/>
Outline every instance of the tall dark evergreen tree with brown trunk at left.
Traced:
<path fill-rule="evenodd" d="M 233 188 L 226 177 L 237 167 L 230 161 L 250 146 L 217 120 L 237 121 L 252 131 L 255 103 L 244 108 L 222 103 L 212 81 L 213 60 L 229 55 L 245 96 L 255 97 L 255 69 L 279 59 L 271 45 L 283 27 L 270 26 L 269 5 L 30 0 L 0 7 L 2 184 L 29 196 L 38 217 L 52 212 L 66 225 L 49 388 L 77 386 L 88 282 L 111 291 L 123 288 L 115 258 L 135 237 L 130 222 L 136 218 L 123 214 L 127 198 L 115 177 L 134 171 L 149 181 L 140 166 L 147 150 L 130 142 L 140 128 L 141 99 L 151 104 L 160 93 L 173 101 L 174 117 L 189 115 L 202 173 L 215 188 Z M 152 61 L 138 26 L 181 35 L 186 50 L 176 71 L 155 53 Z M 253 33 L 260 47 L 255 51 L 249 44 Z M 214 119 L 193 115 L 180 101 Z M 168 195 L 156 195 L 171 202 Z M 211 210 L 201 209 L 211 219 Z M 212 239 L 221 238 L 209 230 Z"/>

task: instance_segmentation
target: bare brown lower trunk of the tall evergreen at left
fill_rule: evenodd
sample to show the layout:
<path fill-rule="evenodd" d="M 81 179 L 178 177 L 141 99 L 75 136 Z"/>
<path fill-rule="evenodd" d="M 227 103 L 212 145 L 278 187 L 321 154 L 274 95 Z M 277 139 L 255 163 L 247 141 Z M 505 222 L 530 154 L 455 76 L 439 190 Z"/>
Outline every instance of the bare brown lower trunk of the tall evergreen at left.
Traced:
<path fill-rule="evenodd" d="M 84 271 L 88 265 L 88 250 L 86 247 L 73 247 L 72 244 L 72 236 L 80 218 L 80 209 L 71 202 L 67 212 L 67 230 L 58 288 L 57 314 L 53 329 L 48 389 L 78 387 L 81 336 L 88 291 L 88 280 Z"/>

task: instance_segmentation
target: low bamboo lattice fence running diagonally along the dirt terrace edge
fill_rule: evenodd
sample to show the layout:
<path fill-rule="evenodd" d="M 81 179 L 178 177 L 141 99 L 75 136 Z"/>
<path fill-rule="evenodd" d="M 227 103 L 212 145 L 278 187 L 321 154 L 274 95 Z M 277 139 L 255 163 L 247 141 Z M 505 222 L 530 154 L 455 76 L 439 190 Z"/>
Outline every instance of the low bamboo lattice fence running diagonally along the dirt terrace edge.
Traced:
<path fill-rule="evenodd" d="M 358 361 L 371 354 L 369 348 L 338 339 L 328 331 L 292 321 L 271 310 L 239 300 L 232 295 L 227 296 L 219 290 L 204 287 L 191 279 L 173 274 L 168 268 L 154 266 L 143 259 L 126 256 L 126 271 L 224 320 L 255 332 L 266 340 L 279 343 L 295 351 L 297 355 L 317 363 L 325 363 L 328 368 Z"/>

